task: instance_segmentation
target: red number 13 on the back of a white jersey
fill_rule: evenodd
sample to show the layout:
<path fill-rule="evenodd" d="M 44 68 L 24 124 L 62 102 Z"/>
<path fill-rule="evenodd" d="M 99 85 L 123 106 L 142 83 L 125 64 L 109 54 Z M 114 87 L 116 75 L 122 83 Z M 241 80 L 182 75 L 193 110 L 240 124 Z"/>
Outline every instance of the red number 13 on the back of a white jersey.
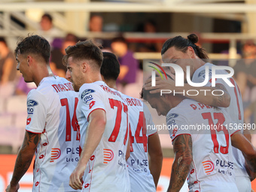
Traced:
<path fill-rule="evenodd" d="M 218 140 L 217 140 L 216 131 L 217 132 L 223 131 L 224 135 L 225 135 L 226 146 L 225 147 L 221 146 L 220 151 L 221 151 L 221 154 L 227 154 L 230 138 L 229 138 L 227 128 L 226 128 L 226 126 L 224 126 L 224 121 L 225 121 L 224 114 L 222 114 L 222 113 L 213 113 L 214 119 L 218 120 L 218 122 L 215 125 L 213 123 L 212 114 L 210 112 L 209 113 L 203 113 L 202 116 L 203 116 L 203 119 L 208 120 L 209 126 L 211 126 L 213 151 L 215 152 L 215 154 L 218 154 L 218 151 L 219 151 L 219 144 L 218 144 Z"/>

